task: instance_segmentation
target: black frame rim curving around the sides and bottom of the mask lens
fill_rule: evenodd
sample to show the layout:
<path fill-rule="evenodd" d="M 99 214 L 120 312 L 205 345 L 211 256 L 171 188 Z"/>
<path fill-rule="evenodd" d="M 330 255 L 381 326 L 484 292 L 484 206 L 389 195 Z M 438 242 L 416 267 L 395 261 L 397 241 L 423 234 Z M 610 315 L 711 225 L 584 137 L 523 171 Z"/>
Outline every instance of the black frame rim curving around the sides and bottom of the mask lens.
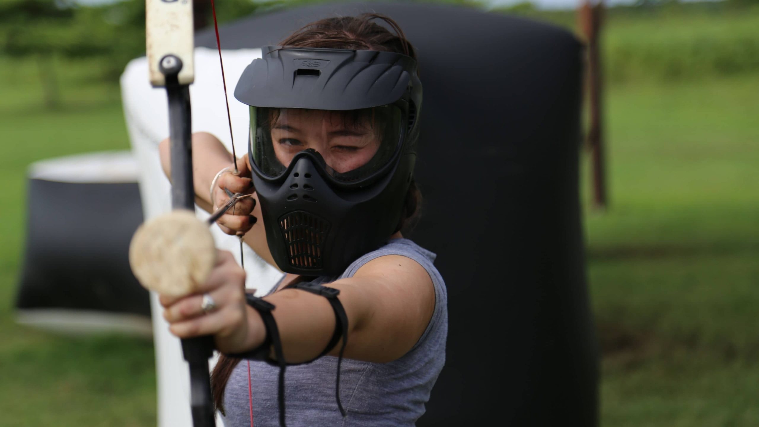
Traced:
<path fill-rule="evenodd" d="M 408 138 L 408 131 L 411 128 L 411 119 L 409 118 L 409 100 L 408 97 L 404 96 L 402 99 L 395 101 L 395 103 L 390 104 L 391 106 L 394 106 L 395 108 L 398 108 L 398 110 L 401 113 L 401 119 L 398 120 L 398 141 L 395 143 L 395 150 L 392 153 L 392 155 L 385 161 L 385 163 L 382 166 L 379 166 L 379 169 L 376 171 L 370 172 L 367 176 L 364 176 L 361 179 L 356 179 L 354 181 L 345 181 L 343 179 L 339 179 L 335 177 L 335 173 L 333 172 L 333 169 L 326 164 L 323 157 L 320 153 L 318 153 L 316 150 L 313 149 L 307 149 L 302 150 L 294 155 L 294 157 L 290 160 L 290 164 L 285 167 L 282 172 L 279 172 L 277 176 L 269 176 L 266 172 L 264 172 L 260 166 L 258 165 L 258 162 L 254 159 L 254 150 L 256 150 L 256 147 L 254 147 L 254 138 L 261 138 L 259 133 L 259 129 L 257 124 L 254 121 L 254 114 L 256 114 L 253 110 L 257 107 L 250 106 L 251 112 L 250 112 L 250 129 L 248 134 L 248 156 L 250 159 L 250 166 L 253 169 L 253 172 L 258 176 L 259 179 L 262 179 L 265 182 L 268 182 L 270 184 L 282 184 L 282 182 L 285 182 L 285 180 L 290 176 L 292 173 L 292 170 L 295 167 L 295 164 L 298 163 L 298 160 L 301 159 L 301 157 L 308 156 L 312 157 L 313 164 L 317 166 L 317 170 L 320 173 L 320 176 L 323 177 L 323 179 L 326 182 L 329 182 L 330 185 L 335 186 L 335 188 L 340 189 L 350 189 L 350 188 L 361 188 L 366 185 L 371 185 L 373 182 L 376 182 L 377 179 L 380 177 L 386 175 L 394 166 L 395 163 L 398 162 L 398 157 L 402 155 L 405 151 L 405 142 Z M 260 142 L 259 142 L 260 144 Z M 369 160 L 368 163 L 370 163 L 372 160 Z M 362 166 L 359 166 L 357 169 L 361 169 Z M 357 170 L 354 169 L 354 170 Z M 353 171 L 345 172 L 346 174 L 349 174 Z"/>

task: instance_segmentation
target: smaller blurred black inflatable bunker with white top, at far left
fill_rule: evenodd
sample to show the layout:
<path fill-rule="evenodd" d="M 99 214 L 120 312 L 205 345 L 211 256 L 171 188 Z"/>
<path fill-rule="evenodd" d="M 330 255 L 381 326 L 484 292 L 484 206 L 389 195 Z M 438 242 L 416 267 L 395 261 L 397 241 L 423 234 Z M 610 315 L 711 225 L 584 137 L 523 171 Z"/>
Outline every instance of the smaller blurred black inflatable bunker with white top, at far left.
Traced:
<path fill-rule="evenodd" d="M 29 170 L 17 321 L 74 334 L 153 336 L 148 293 L 129 267 L 143 221 L 129 152 L 43 160 Z"/>

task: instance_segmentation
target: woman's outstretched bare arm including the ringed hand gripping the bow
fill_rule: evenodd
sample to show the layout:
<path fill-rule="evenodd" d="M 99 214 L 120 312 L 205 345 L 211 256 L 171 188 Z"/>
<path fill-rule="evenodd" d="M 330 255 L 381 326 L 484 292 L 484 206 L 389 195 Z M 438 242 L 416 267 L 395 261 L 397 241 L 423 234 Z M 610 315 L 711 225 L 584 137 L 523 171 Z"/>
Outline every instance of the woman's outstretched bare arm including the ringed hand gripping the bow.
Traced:
<path fill-rule="evenodd" d="M 416 261 L 400 255 L 376 258 L 361 267 L 354 277 L 329 286 L 340 289 L 339 299 L 348 315 L 345 357 L 350 359 L 367 362 L 398 359 L 419 340 L 435 308 L 435 292 L 427 271 Z M 229 288 L 241 289 L 239 285 Z M 235 304 L 239 305 L 243 299 L 238 293 Z M 326 299 L 285 289 L 266 300 L 276 305 L 272 313 L 288 362 L 304 362 L 324 350 L 335 328 L 335 315 Z M 162 298 L 162 303 L 167 307 L 165 318 L 172 323 L 171 331 L 178 337 L 215 334 L 216 344 L 224 353 L 241 353 L 263 343 L 263 322 L 253 308 L 245 306 L 244 319 L 230 316 L 225 323 L 219 319 L 222 316 L 215 318 L 198 312 L 200 296 L 178 302 Z M 230 326 L 235 322 L 238 323 Z M 339 345 L 330 354 L 336 356 L 338 351 Z"/>

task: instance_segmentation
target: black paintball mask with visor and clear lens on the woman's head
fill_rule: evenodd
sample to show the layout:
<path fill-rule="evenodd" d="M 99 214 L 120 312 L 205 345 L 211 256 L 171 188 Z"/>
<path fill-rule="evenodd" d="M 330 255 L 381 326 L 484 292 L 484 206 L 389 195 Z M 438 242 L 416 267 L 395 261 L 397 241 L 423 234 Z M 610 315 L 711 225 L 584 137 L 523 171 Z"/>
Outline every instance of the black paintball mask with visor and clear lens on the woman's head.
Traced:
<path fill-rule="evenodd" d="M 398 231 L 422 87 L 407 55 L 265 46 L 235 97 L 269 250 L 282 271 L 333 276 Z"/>

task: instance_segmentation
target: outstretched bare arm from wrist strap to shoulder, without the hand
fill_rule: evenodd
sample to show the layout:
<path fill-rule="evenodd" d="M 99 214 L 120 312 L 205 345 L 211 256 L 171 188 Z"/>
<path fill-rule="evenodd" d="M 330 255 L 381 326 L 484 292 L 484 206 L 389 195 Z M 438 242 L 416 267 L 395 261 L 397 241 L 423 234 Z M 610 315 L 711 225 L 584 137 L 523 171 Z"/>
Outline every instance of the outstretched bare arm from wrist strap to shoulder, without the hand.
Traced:
<path fill-rule="evenodd" d="M 330 283 L 340 289 L 348 315 L 345 357 L 391 362 L 419 340 L 435 309 L 432 280 L 416 261 L 400 255 L 376 258 L 354 277 Z M 285 289 L 266 298 L 273 312 L 288 362 L 318 356 L 335 330 L 335 315 L 321 296 Z M 339 346 L 332 350 L 337 356 Z"/>

